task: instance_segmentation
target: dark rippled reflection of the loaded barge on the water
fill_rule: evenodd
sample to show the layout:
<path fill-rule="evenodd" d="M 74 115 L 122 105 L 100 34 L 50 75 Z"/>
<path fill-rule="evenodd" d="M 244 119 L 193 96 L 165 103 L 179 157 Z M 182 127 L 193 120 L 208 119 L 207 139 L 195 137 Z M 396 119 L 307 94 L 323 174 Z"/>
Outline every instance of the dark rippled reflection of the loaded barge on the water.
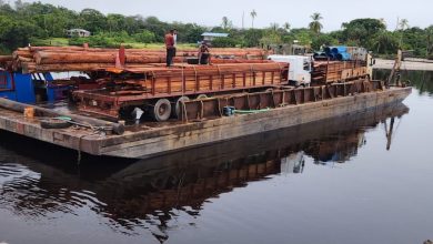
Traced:
<path fill-rule="evenodd" d="M 170 221 L 179 215 L 194 220 L 203 204 L 222 193 L 276 174 L 301 174 L 306 156 L 316 164 L 345 163 L 367 143 L 365 131 L 407 112 L 397 103 L 151 160 L 89 156 L 81 165 L 74 152 L 54 148 L 46 151 L 56 153 L 41 154 L 40 143 L 4 133 L 0 209 L 43 220 L 79 214 L 85 206 L 114 231 L 133 235 L 150 228 L 164 242 Z"/>

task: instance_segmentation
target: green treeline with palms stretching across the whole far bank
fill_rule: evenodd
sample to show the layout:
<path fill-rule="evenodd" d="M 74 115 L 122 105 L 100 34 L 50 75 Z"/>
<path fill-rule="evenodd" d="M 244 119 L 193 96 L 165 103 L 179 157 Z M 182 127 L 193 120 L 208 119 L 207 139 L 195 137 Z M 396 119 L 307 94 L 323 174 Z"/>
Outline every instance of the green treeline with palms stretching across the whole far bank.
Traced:
<path fill-rule="evenodd" d="M 433 26 L 421 29 L 410 27 L 406 20 L 400 21 L 394 31 L 377 19 L 355 19 L 343 23 L 341 30 L 323 33 L 320 13 L 311 16 L 305 28 L 291 28 L 290 23 L 271 23 L 269 28 L 253 28 L 254 18 L 260 14 L 252 10 L 252 27 L 234 28 L 222 17 L 215 27 L 202 27 L 195 23 L 163 22 L 157 17 L 103 14 L 94 9 L 80 12 L 63 7 L 41 2 L 13 6 L 0 0 L 0 50 L 10 52 L 17 47 L 38 43 L 38 40 L 64 38 L 66 30 L 85 29 L 92 32 L 90 38 L 69 39 L 69 44 L 89 42 L 92 47 L 118 47 L 120 43 L 161 43 L 164 33 L 172 28 L 179 30 L 179 42 L 197 43 L 205 31 L 228 32 L 230 38 L 218 39 L 215 47 L 268 47 L 298 43 L 319 50 L 322 45 L 360 45 L 379 54 L 393 54 L 399 48 L 413 50 L 415 57 L 433 58 Z"/>

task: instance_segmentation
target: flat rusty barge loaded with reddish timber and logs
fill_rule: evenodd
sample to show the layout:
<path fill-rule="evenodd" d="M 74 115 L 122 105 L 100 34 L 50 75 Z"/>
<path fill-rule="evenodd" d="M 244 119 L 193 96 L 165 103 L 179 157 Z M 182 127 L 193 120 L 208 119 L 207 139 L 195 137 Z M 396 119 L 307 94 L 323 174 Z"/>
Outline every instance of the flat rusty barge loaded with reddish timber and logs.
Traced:
<path fill-rule="evenodd" d="M 169 69 L 149 63 L 155 57 L 137 51 L 128 55 L 124 49 L 60 51 L 66 52 L 62 59 L 52 49 L 18 50 L 9 67 L 21 67 L 22 72 L 63 71 L 59 69 L 68 65 L 88 69 L 92 88 L 80 89 L 78 83 L 71 91 L 78 110 L 64 113 L 0 98 L 0 130 L 92 155 L 147 159 L 399 104 L 412 91 L 371 80 L 366 67 L 359 72 L 356 62 L 328 62 L 326 72 L 320 74 L 326 82 L 296 88 L 286 83 L 290 63 L 220 60 L 223 64 L 182 63 Z M 88 63 L 64 63 L 74 62 L 80 53 Z M 26 80 L 31 83 L 34 74 L 24 74 Z M 133 112 L 137 123 L 125 125 Z M 143 113 L 157 122 L 143 121 Z M 44 125 L 52 119 L 73 126 Z"/>

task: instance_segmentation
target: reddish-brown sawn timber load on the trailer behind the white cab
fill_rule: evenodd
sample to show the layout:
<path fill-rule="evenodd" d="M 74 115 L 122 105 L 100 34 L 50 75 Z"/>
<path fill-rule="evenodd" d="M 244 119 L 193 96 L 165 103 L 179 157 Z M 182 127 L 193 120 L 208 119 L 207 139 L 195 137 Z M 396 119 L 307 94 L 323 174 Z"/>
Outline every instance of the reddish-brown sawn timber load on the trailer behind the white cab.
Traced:
<path fill-rule="evenodd" d="M 123 91 L 142 91 L 153 95 L 207 93 L 233 89 L 280 85 L 288 81 L 288 63 L 243 63 L 184 67 L 148 67 L 128 69 L 143 79 L 118 80 Z M 128 92 L 131 93 L 131 92 Z M 140 92 L 137 92 L 140 93 Z M 125 93 L 114 92 L 122 95 Z"/>

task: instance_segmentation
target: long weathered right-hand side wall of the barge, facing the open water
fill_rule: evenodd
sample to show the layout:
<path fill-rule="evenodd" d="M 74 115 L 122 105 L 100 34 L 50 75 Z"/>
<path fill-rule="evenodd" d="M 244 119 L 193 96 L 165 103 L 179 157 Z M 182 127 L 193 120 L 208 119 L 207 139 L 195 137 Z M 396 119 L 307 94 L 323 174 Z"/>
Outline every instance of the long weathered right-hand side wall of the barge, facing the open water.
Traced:
<path fill-rule="evenodd" d="M 320 102 L 274 109 L 264 113 L 222 118 L 144 132 L 127 138 L 109 139 L 101 143 L 101 154 L 141 157 L 226 141 L 273 131 L 318 120 L 361 112 L 387 103 L 402 102 L 412 89 L 393 89 L 362 93 Z M 140 140 L 141 138 L 141 140 Z"/>

